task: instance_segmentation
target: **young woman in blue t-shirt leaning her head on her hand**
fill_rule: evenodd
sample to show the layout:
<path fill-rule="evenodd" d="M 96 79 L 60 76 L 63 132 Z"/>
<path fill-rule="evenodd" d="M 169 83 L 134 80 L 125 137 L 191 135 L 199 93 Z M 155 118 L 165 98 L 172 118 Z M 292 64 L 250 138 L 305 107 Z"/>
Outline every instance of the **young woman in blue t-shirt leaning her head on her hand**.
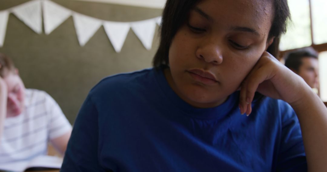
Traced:
<path fill-rule="evenodd" d="M 326 107 L 274 57 L 288 17 L 286 0 L 168 0 L 154 68 L 91 90 L 61 171 L 327 169 Z"/>

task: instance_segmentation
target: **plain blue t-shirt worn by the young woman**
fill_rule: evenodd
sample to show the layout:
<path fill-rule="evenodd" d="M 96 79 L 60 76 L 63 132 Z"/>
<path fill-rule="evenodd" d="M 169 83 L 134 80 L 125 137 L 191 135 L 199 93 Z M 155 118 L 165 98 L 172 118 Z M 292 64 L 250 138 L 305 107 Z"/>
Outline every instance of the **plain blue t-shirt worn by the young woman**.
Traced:
<path fill-rule="evenodd" d="M 263 97 L 247 117 L 238 100 L 192 107 L 162 70 L 107 77 L 79 111 L 61 171 L 306 171 L 293 109 Z"/>

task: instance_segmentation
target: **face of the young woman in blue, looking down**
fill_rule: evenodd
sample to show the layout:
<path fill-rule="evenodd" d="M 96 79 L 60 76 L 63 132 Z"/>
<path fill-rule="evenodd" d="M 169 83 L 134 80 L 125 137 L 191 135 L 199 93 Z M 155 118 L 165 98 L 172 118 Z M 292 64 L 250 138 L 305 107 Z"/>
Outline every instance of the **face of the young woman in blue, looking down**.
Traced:
<path fill-rule="evenodd" d="M 220 105 L 267 50 L 272 19 L 267 0 L 200 1 L 170 46 L 169 85 L 194 107 Z"/>

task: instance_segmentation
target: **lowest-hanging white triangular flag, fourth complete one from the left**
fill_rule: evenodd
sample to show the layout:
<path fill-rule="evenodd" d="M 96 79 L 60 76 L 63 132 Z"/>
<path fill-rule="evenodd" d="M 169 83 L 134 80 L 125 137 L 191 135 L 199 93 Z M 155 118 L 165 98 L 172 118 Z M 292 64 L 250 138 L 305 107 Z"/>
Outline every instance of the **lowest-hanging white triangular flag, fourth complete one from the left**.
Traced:
<path fill-rule="evenodd" d="M 128 22 L 105 22 L 103 26 L 113 48 L 116 52 L 120 52 L 129 32 L 130 24 Z"/>

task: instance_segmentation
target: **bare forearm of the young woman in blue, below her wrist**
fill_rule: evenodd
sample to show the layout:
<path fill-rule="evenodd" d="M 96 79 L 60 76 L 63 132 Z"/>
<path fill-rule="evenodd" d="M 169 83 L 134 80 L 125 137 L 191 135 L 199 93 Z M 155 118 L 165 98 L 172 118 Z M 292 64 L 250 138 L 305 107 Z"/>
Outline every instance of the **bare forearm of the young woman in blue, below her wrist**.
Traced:
<path fill-rule="evenodd" d="M 327 108 L 317 94 L 304 89 L 304 98 L 291 104 L 301 125 L 308 171 L 327 169 Z"/>

